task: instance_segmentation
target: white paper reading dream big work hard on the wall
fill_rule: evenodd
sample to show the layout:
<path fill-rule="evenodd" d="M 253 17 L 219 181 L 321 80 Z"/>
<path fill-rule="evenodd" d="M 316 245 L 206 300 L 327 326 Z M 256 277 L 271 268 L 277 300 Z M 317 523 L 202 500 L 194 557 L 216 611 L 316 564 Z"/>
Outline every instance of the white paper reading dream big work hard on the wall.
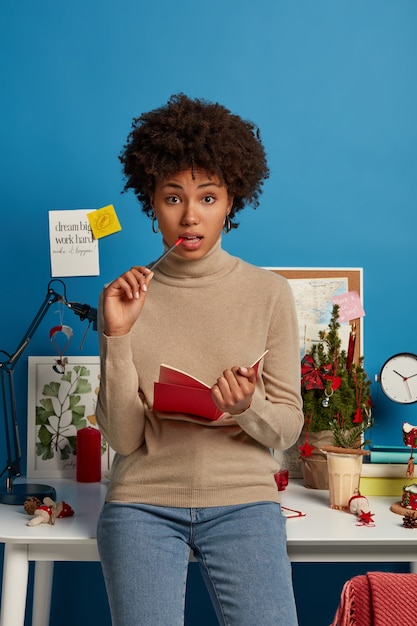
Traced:
<path fill-rule="evenodd" d="M 98 276 L 98 241 L 87 213 L 91 209 L 49 211 L 51 276 Z"/>

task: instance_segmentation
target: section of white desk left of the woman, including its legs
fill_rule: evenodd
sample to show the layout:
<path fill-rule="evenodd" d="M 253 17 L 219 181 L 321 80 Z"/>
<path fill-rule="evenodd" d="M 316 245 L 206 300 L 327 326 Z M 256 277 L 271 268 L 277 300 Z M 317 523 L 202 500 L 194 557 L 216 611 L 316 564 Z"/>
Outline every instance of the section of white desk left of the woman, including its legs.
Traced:
<path fill-rule="evenodd" d="M 54 561 L 98 561 L 97 518 L 106 485 L 45 480 L 65 500 L 73 517 L 55 525 L 28 526 L 23 506 L 0 505 L 0 542 L 5 543 L 1 626 L 24 626 L 29 561 L 35 561 L 32 626 L 48 626 Z"/>

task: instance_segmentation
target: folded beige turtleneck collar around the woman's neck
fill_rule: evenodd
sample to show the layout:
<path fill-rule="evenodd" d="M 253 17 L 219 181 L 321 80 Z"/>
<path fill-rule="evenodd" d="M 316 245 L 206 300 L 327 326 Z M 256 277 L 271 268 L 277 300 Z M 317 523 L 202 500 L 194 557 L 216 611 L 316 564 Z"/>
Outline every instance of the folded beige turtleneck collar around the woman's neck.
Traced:
<path fill-rule="evenodd" d="M 165 284 L 193 278 L 217 280 L 231 272 L 237 262 L 236 257 L 223 250 L 219 237 L 213 248 L 198 261 L 189 261 L 173 252 L 155 270 L 155 279 Z"/>

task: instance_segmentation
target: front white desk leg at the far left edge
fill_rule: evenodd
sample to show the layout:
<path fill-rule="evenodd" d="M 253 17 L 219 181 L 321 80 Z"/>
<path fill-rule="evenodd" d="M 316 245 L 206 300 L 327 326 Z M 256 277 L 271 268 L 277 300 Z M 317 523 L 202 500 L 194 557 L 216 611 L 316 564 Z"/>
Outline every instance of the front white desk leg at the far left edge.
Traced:
<path fill-rule="evenodd" d="M 24 626 L 28 574 L 27 545 L 6 543 L 0 626 Z"/>

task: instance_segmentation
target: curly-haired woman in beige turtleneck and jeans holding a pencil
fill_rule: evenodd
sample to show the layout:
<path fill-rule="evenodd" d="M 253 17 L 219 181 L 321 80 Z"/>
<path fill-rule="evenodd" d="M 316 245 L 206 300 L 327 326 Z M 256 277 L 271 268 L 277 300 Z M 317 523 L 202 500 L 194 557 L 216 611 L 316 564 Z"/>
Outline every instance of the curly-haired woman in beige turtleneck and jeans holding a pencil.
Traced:
<path fill-rule="evenodd" d="M 179 94 L 134 119 L 120 160 L 152 230 L 181 243 L 101 298 L 97 420 L 116 454 L 98 544 L 113 624 L 183 624 L 191 550 L 220 624 L 295 626 L 271 455 L 303 424 L 294 303 L 285 279 L 221 247 L 269 175 L 258 130 Z M 158 410 L 163 363 L 212 385 L 220 417 Z"/>

